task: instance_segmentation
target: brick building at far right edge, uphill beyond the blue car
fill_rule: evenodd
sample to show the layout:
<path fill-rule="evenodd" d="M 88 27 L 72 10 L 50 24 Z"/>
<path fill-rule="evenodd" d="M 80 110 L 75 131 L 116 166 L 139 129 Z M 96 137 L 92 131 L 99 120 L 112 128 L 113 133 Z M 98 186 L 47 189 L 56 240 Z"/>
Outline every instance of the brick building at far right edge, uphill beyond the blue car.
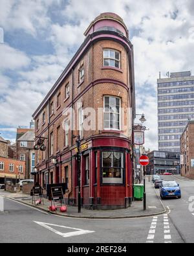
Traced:
<path fill-rule="evenodd" d="M 194 179 L 194 121 L 189 121 L 180 137 L 181 174 Z"/>

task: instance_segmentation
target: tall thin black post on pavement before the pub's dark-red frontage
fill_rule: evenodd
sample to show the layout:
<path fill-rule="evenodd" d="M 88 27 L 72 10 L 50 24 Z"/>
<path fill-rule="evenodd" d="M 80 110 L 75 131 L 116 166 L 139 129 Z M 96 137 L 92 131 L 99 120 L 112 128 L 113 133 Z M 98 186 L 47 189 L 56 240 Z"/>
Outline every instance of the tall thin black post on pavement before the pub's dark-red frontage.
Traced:
<path fill-rule="evenodd" d="M 74 139 L 76 139 L 76 144 L 77 144 L 77 155 L 76 155 L 76 159 L 77 159 L 77 167 L 78 167 L 78 213 L 81 213 L 81 173 L 80 173 L 80 163 L 81 163 L 81 137 L 80 135 L 76 136 L 76 135 L 72 135 L 72 137 Z"/>

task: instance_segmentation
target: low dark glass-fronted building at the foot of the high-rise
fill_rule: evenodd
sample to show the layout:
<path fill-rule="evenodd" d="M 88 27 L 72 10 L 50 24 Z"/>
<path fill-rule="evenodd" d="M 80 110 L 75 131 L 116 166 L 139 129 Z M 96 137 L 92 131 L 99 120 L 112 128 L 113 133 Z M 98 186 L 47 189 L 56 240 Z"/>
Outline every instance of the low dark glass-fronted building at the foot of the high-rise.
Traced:
<path fill-rule="evenodd" d="M 180 174 L 179 152 L 152 151 L 147 156 L 149 157 L 149 165 L 146 167 L 147 174 L 164 174 L 164 172 Z"/>

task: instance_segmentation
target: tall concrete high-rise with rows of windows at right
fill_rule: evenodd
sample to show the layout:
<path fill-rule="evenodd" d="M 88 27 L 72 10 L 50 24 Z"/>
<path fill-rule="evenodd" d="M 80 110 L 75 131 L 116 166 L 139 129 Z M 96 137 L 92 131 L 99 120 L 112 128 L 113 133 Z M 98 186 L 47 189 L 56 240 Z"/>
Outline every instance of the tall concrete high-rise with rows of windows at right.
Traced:
<path fill-rule="evenodd" d="M 158 83 L 158 150 L 180 152 L 180 135 L 194 118 L 194 76 L 169 74 Z"/>

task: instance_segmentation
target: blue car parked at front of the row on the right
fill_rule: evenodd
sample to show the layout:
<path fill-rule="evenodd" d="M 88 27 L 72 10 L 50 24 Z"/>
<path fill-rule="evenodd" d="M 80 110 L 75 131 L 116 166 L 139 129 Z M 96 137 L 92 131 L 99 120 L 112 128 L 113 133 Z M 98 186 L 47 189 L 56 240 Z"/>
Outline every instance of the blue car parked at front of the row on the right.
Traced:
<path fill-rule="evenodd" d="M 160 197 L 165 198 L 181 198 L 180 187 L 176 181 L 162 181 L 160 186 Z"/>

